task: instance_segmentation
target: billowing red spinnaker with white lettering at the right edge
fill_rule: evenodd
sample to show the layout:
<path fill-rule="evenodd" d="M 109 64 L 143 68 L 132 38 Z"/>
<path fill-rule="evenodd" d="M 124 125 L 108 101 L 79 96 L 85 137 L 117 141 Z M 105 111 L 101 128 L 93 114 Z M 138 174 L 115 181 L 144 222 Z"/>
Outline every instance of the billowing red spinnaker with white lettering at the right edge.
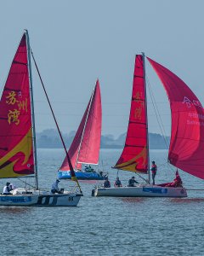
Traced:
<path fill-rule="evenodd" d="M 190 88 L 166 67 L 151 60 L 171 106 L 172 135 L 168 160 L 184 172 L 204 179 L 204 110 Z"/>

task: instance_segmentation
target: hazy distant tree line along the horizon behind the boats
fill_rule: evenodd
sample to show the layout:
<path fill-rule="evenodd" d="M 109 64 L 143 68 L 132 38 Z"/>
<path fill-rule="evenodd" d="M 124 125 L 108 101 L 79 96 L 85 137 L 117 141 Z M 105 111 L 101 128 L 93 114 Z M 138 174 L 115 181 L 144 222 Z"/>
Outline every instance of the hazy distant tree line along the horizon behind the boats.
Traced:
<path fill-rule="evenodd" d="M 66 147 L 69 148 L 76 131 L 71 131 L 69 134 L 63 134 Z M 102 135 L 100 148 L 123 148 L 125 143 L 126 133 L 122 133 L 116 139 L 112 135 Z M 150 133 L 149 142 L 151 149 L 166 149 L 169 137 L 162 137 L 161 134 Z M 38 148 L 62 148 L 62 143 L 59 139 L 58 131 L 54 129 L 47 129 L 37 133 L 37 147 Z"/>

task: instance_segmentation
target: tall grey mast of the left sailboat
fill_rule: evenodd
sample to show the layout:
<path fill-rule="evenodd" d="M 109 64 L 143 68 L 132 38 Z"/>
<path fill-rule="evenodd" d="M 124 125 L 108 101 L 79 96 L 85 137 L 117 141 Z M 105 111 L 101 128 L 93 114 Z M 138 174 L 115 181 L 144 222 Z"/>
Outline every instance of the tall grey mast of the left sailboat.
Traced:
<path fill-rule="evenodd" d="M 28 31 L 26 30 L 26 44 L 27 44 L 27 58 L 28 58 L 28 73 L 29 73 L 29 84 L 31 92 L 31 121 L 32 121 L 32 134 L 33 134 L 33 149 L 34 149 L 34 169 L 36 177 L 36 189 L 38 188 L 38 176 L 37 176 L 37 143 L 36 143 L 36 125 L 35 125 L 35 113 L 34 113 L 34 100 L 33 100 L 33 89 L 32 89 L 32 75 L 31 75 L 31 52 L 30 52 L 30 40 Z"/>

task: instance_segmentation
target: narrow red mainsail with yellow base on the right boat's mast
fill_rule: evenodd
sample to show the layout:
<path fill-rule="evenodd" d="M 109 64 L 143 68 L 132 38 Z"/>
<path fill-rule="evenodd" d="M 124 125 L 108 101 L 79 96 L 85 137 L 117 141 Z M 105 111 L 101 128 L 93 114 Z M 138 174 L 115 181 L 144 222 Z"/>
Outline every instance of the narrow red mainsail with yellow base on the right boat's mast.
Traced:
<path fill-rule="evenodd" d="M 144 86 L 143 56 L 136 55 L 127 137 L 122 155 L 115 166 L 117 169 L 143 173 L 146 173 L 148 169 L 147 117 Z"/>

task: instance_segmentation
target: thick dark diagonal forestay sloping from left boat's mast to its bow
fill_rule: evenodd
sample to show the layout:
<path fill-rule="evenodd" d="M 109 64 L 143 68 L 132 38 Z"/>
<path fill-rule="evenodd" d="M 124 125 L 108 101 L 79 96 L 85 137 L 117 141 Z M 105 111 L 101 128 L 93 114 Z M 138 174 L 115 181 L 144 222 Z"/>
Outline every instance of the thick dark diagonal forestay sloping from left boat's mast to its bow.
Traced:
<path fill-rule="evenodd" d="M 31 49 L 31 47 L 30 47 L 30 49 Z M 67 157 L 67 160 L 68 160 L 68 163 L 69 163 L 71 172 L 73 173 L 73 174 L 71 173 L 71 177 L 74 177 L 74 178 L 75 178 L 75 181 L 77 182 L 77 186 L 78 186 L 78 188 L 80 189 L 80 192 L 82 193 L 81 186 L 80 186 L 80 184 L 78 183 L 77 177 L 76 177 L 75 172 L 74 172 L 74 168 L 73 168 L 73 166 L 72 166 L 72 164 L 71 164 L 70 156 L 69 156 L 69 154 L 68 154 L 68 152 L 67 152 L 67 150 L 66 150 L 65 142 L 64 142 L 63 137 L 62 137 L 62 135 L 61 135 L 61 131 L 59 130 L 59 125 L 58 125 L 58 123 L 57 123 L 57 119 L 55 118 L 53 108 L 52 108 L 52 106 L 51 106 L 51 104 L 50 104 L 50 102 L 49 102 L 48 94 L 47 94 L 47 91 L 45 90 L 44 84 L 43 84 L 43 82 L 42 82 L 42 77 L 41 77 L 41 74 L 40 74 L 39 69 L 38 69 L 38 67 L 37 67 L 37 62 L 36 62 L 36 60 L 35 60 L 35 58 L 34 58 L 34 55 L 33 55 L 33 53 L 32 53 L 32 50 L 31 50 L 31 56 L 32 56 L 32 59 L 33 59 L 33 61 L 34 61 L 34 64 L 35 64 L 35 66 L 36 66 L 36 68 L 37 68 L 37 73 L 38 73 L 39 79 L 41 80 L 42 88 L 43 88 L 44 93 L 45 93 L 45 96 L 46 96 L 46 98 L 47 98 L 47 100 L 48 100 L 49 108 L 50 108 L 50 110 L 51 110 L 51 112 L 52 112 L 52 114 L 53 114 L 54 122 L 55 122 L 55 125 L 57 126 L 57 129 L 58 129 L 58 132 L 59 132 L 59 137 L 60 137 L 61 142 L 62 142 L 62 144 L 63 144 L 63 147 L 64 147 L 64 149 L 65 149 L 65 154 L 66 154 L 66 157 Z"/>

